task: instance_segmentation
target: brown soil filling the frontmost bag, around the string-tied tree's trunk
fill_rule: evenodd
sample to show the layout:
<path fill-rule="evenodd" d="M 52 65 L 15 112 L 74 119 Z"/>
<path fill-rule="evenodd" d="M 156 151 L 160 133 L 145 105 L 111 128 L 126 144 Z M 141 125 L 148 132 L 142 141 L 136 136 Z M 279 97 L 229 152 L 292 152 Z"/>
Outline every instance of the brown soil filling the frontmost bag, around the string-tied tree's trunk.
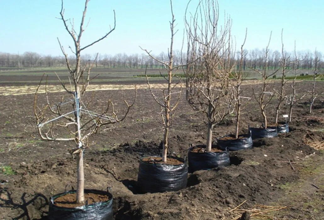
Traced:
<path fill-rule="evenodd" d="M 96 193 L 85 193 L 84 194 L 85 201 L 88 202 L 88 205 L 93 203 L 99 202 L 106 202 L 110 198 L 108 195 L 96 194 Z M 76 203 L 76 194 L 75 193 L 68 193 L 63 196 L 60 196 L 54 200 L 54 205 L 59 207 L 66 207 L 66 208 L 75 208 L 79 207 L 84 204 L 77 204 Z"/>

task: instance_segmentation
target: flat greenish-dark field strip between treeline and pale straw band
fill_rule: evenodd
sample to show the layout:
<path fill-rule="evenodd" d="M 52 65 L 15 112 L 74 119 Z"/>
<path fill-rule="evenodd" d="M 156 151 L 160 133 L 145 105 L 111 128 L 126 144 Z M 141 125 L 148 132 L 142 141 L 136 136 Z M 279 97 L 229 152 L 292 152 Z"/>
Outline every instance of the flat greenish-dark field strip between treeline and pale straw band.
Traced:
<path fill-rule="evenodd" d="M 68 82 L 69 73 L 67 72 L 65 67 L 56 67 L 56 68 L 0 68 L 0 84 L 7 83 L 24 83 L 24 84 L 34 84 L 38 83 L 41 80 L 41 76 L 45 73 L 48 75 L 49 83 L 57 83 L 57 77 L 55 72 L 60 76 L 60 78 Z M 151 81 L 161 81 L 163 77 L 160 75 L 166 75 L 166 71 L 163 69 L 148 69 L 147 74 L 150 76 Z M 180 77 L 184 76 L 183 70 L 179 69 L 175 71 L 177 75 Z M 322 74 L 318 80 L 324 80 L 323 74 L 324 70 L 320 71 Z M 98 75 L 99 74 L 99 75 Z M 92 68 L 91 76 L 94 77 L 98 75 L 92 82 L 93 83 L 116 83 L 116 82 L 124 82 L 126 84 L 129 83 L 145 83 L 145 69 L 132 69 L 132 68 Z M 259 79 L 260 75 L 255 71 L 244 71 L 247 79 Z M 300 74 L 304 74 L 300 76 Z M 311 75 L 310 70 L 299 70 L 298 78 L 304 80 L 310 80 Z M 293 78 L 293 72 L 288 72 L 286 74 L 287 79 Z M 280 78 L 280 72 L 278 71 L 276 74 L 276 78 Z"/>

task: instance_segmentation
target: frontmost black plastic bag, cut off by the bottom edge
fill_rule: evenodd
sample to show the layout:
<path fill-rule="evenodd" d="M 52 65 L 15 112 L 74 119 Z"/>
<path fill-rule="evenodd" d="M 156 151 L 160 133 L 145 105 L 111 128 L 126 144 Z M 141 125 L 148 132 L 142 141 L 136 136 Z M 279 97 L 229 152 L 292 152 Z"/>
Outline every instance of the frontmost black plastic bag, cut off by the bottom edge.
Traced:
<path fill-rule="evenodd" d="M 101 190 L 84 190 L 85 193 L 96 193 L 107 195 L 110 200 L 106 202 L 98 202 L 89 205 L 82 205 L 75 208 L 59 207 L 54 204 L 54 200 L 60 196 L 68 193 L 76 193 L 75 190 L 67 191 L 64 193 L 56 194 L 50 198 L 50 207 L 48 219 L 50 220 L 110 220 L 113 219 L 112 211 L 112 195 L 108 192 Z"/>

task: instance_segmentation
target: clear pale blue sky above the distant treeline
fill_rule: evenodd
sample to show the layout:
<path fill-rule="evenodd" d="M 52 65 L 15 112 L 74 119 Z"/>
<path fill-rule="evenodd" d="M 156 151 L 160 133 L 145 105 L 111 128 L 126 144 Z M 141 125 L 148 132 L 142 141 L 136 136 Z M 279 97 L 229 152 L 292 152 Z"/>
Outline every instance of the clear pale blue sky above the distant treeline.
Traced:
<path fill-rule="evenodd" d="M 281 49 L 281 29 L 284 28 L 285 49 L 324 51 L 322 0 L 219 0 L 221 16 L 224 11 L 233 20 L 232 34 L 237 45 L 243 41 L 248 28 L 246 49 L 264 48 L 272 31 L 271 49 Z M 72 46 L 59 16 L 60 0 L 0 0 L 0 52 L 38 52 L 43 55 L 61 55 L 57 37 L 67 48 Z M 187 0 L 173 0 L 179 32 L 175 49 L 181 48 L 183 17 Z M 198 0 L 191 1 L 191 9 Z M 82 16 L 84 1 L 65 0 L 66 18 L 75 18 L 77 25 Z M 113 25 L 116 11 L 116 30 L 102 42 L 84 53 L 116 54 L 142 53 L 138 47 L 159 54 L 169 47 L 170 4 L 168 0 L 91 0 L 88 4 L 87 30 L 82 45 L 103 36 Z"/>

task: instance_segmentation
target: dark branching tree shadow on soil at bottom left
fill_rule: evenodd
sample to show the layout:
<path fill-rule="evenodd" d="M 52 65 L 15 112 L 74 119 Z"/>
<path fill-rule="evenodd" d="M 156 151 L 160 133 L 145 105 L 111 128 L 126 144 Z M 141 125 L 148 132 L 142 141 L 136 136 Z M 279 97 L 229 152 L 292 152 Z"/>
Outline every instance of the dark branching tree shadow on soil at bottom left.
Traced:
<path fill-rule="evenodd" d="M 6 188 L 0 188 L 0 207 L 11 208 L 11 209 L 21 209 L 23 213 L 13 219 L 28 219 L 30 220 L 30 213 L 28 211 L 28 206 L 32 205 L 37 210 L 41 210 L 43 207 L 48 205 L 48 199 L 41 193 L 30 195 L 29 193 L 23 193 L 20 197 L 21 202 L 15 203 L 11 197 L 10 192 Z M 31 199 L 29 199 L 31 197 Z M 29 199 L 29 200 L 28 200 Z M 28 201 L 27 201 L 28 200 Z M 47 219 L 47 217 L 42 213 L 40 219 Z M 32 218 L 34 219 L 34 218 Z"/>

